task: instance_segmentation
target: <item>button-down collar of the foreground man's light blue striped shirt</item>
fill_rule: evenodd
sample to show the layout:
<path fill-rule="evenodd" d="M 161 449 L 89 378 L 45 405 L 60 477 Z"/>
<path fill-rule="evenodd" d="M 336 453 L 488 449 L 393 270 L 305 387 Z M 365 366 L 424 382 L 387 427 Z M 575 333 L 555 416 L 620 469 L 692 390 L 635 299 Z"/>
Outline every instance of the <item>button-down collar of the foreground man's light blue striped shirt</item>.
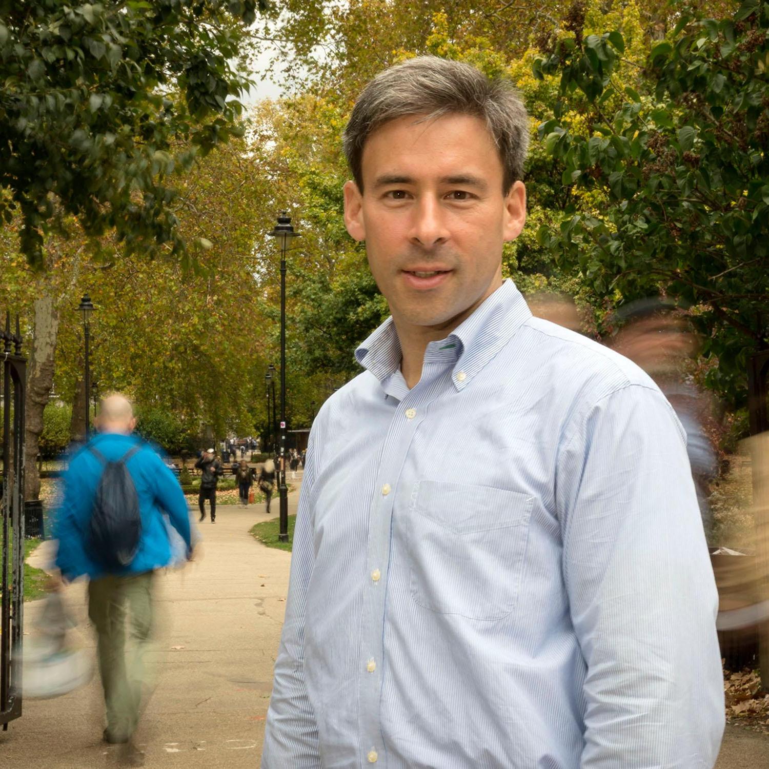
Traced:
<path fill-rule="evenodd" d="M 462 390 L 478 371 L 507 344 L 515 331 L 531 318 L 526 301 L 509 278 L 462 321 L 447 338 L 431 342 L 442 346 L 458 345 L 451 375 L 454 387 Z M 384 386 L 401 366 L 401 342 L 392 317 L 379 326 L 355 351 L 355 359 Z"/>

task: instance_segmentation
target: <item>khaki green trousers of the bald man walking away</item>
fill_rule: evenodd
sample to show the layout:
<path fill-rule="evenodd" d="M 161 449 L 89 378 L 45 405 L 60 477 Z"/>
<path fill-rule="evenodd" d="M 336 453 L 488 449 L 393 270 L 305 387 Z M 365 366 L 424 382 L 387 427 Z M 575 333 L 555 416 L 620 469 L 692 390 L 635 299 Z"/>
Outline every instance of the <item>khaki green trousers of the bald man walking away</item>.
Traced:
<path fill-rule="evenodd" d="M 145 654 L 152 631 L 154 573 L 108 575 L 88 584 L 88 617 L 97 634 L 99 673 L 111 737 L 128 739 L 141 712 L 142 685 L 148 684 Z M 128 615 L 131 647 L 125 651 Z"/>

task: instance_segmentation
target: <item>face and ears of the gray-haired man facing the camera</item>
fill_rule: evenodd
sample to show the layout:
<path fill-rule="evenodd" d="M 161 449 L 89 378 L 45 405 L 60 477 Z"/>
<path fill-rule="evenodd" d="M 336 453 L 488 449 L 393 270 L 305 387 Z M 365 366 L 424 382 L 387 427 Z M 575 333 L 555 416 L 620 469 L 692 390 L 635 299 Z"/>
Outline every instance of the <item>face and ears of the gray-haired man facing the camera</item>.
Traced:
<path fill-rule="evenodd" d="M 345 223 L 366 241 L 368 263 L 399 334 L 451 331 L 502 283 L 504 241 L 526 218 L 518 181 L 502 192 L 498 150 L 480 118 L 418 116 L 366 140 L 364 192 L 345 185 Z"/>

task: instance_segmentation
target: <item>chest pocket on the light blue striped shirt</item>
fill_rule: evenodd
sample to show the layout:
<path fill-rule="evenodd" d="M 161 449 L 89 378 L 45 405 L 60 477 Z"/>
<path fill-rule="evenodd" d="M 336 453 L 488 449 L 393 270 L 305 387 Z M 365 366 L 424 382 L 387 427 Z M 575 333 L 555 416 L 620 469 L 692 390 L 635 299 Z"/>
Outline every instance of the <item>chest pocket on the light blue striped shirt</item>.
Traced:
<path fill-rule="evenodd" d="M 534 498 L 489 486 L 418 481 L 408 512 L 411 596 L 439 614 L 510 614 Z"/>

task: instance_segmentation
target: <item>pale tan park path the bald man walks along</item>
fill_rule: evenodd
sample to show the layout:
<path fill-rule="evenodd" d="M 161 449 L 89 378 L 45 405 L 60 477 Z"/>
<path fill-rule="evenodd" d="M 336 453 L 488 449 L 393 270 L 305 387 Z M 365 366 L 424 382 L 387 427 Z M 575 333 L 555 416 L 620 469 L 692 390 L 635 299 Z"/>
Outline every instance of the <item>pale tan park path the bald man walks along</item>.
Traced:
<path fill-rule="evenodd" d="M 299 483 L 291 483 L 293 514 Z M 157 687 L 137 735 L 149 769 L 258 767 L 291 562 L 287 552 L 265 548 L 248 534 L 267 518 L 261 505 L 221 505 L 216 524 L 199 524 L 201 560 L 158 580 L 163 623 L 152 654 Z M 42 560 L 45 554 L 37 556 Z M 85 585 L 70 585 L 66 596 L 83 643 L 94 647 L 85 624 Z M 26 604 L 31 633 L 41 606 Z M 0 765 L 115 766 L 117 749 L 100 741 L 102 711 L 97 677 L 67 697 L 26 701 L 23 717 L 0 731 Z M 769 767 L 769 737 L 727 727 L 716 769 L 754 767 Z"/>

